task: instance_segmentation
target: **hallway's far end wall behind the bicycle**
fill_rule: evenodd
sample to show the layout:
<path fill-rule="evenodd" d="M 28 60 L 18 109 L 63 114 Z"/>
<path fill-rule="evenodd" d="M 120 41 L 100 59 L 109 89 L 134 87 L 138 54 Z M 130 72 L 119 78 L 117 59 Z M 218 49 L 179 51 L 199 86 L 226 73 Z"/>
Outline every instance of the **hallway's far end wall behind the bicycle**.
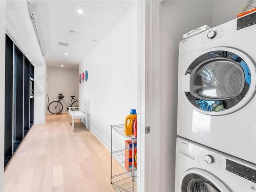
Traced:
<path fill-rule="evenodd" d="M 70 95 L 75 95 L 78 99 L 78 69 L 63 69 L 48 67 L 48 97 L 49 103 L 57 100 L 59 93 L 64 95 L 64 99 L 70 102 Z M 63 111 L 66 113 L 67 105 L 63 102 Z"/>

